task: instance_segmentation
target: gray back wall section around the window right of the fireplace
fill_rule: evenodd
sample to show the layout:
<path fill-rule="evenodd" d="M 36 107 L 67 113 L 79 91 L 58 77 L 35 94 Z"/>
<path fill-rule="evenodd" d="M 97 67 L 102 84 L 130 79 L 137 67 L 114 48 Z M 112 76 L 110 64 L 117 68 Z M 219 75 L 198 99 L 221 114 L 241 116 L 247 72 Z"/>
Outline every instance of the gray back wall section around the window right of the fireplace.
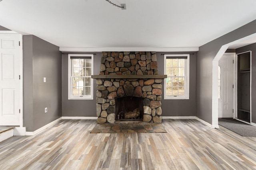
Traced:
<path fill-rule="evenodd" d="M 194 55 L 192 55 L 194 53 Z M 164 81 L 162 81 L 162 116 L 195 116 L 196 115 L 196 52 L 156 53 L 158 74 L 164 74 L 164 55 L 162 54 L 191 54 L 189 100 L 164 100 Z"/>

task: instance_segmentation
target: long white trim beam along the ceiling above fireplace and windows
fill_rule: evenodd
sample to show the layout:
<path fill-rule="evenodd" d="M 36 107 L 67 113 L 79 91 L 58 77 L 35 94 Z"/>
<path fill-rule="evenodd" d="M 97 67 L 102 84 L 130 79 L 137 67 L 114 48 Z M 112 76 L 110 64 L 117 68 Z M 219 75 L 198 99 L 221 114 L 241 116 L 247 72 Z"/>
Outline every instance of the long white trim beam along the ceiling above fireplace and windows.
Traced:
<path fill-rule="evenodd" d="M 199 51 L 199 47 L 60 47 L 62 52 L 102 52 L 102 51 L 156 51 L 189 52 Z"/>

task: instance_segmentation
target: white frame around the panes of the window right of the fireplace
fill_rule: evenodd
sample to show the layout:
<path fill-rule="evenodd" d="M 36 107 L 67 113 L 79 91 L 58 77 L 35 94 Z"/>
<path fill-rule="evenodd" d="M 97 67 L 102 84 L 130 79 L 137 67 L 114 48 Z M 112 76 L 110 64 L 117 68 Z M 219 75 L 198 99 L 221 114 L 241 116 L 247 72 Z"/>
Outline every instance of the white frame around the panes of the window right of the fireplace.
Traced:
<path fill-rule="evenodd" d="M 185 80 L 185 95 L 184 96 L 167 96 L 166 95 L 166 78 L 164 79 L 164 99 L 169 100 L 188 100 L 189 99 L 189 66 L 190 66 L 190 55 L 189 54 L 166 54 L 164 55 L 164 74 L 166 73 L 166 59 L 168 57 L 187 57 L 186 60 L 186 80 Z M 168 77 L 168 76 L 167 76 Z"/>

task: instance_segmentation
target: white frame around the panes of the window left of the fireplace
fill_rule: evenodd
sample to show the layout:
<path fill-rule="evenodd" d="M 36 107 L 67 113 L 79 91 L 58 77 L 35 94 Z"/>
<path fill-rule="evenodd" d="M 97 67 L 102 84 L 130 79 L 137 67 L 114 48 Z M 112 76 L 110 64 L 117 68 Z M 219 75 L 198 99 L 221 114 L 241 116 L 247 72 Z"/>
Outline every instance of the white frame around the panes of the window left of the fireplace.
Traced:
<path fill-rule="evenodd" d="M 93 100 L 93 79 L 91 78 L 91 95 L 90 96 L 82 96 L 82 97 L 74 97 L 72 96 L 72 57 L 91 57 L 92 59 L 92 74 L 93 75 L 93 54 L 68 54 L 68 100 Z"/>

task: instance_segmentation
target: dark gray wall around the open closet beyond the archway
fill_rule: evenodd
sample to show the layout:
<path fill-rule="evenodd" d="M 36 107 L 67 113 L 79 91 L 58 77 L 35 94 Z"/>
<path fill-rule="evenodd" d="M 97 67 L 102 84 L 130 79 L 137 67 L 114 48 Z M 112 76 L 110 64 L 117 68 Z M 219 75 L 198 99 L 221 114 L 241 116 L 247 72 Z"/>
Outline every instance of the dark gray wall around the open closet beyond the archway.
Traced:
<path fill-rule="evenodd" d="M 256 123 L 256 43 L 251 45 L 246 45 L 244 47 L 236 49 L 236 53 L 244 53 L 247 51 L 252 51 L 252 122 Z"/>

